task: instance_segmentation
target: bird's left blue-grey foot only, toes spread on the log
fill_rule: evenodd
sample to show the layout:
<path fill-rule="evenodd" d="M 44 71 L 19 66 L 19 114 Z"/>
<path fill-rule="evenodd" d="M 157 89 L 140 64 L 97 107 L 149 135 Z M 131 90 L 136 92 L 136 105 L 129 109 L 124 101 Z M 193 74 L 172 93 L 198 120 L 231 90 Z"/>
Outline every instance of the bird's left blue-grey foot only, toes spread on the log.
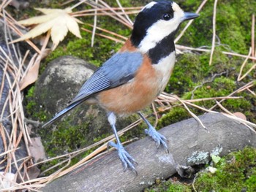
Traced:
<path fill-rule="evenodd" d="M 138 164 L 134 158 L 132 158 L 131 155 L 129 155 L 129 153 L 124 150 L 123 145 L 121 144 L 116 144 L 114 142 L 108 142 L 108 147 L 115 147 L 116 150 L 118 150 L 118 156 L 121 159 L 121 162 L 124 166 L 124 171 L 127 170 L 127 168 L 132 169 L 132 172 L 135 172 L 136 175 L 138 175 L 134 164 Z"/>

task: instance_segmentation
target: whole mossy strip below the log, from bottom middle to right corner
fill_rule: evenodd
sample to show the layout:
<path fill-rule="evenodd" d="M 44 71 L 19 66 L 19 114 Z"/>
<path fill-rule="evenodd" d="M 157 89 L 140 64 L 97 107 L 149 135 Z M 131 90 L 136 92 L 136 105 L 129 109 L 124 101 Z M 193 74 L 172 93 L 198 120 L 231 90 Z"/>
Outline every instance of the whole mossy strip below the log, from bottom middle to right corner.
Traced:
<path fill-rule="evenodd" d="M 214 173 L 209 172 L 207 165 L 206 169 L 197 173 L 194 180 L 172 177 L 167 181 L 156 182 L 154 186 L 145 189 L 144 192 L 256 191 L 255 148 L 245 147 L 244 150 L 230 153 L 219 158 L 216 164 L 211 163 L 211 166 L 213 165 L 217 169 Z"/>

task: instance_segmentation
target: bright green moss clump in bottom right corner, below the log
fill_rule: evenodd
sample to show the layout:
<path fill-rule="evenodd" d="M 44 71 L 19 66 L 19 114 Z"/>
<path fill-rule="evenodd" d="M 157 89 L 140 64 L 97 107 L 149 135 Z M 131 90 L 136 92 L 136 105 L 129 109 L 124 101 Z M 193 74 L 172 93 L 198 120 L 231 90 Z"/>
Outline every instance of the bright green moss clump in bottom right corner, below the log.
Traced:
<path fill-rule="evenodd" d="M 200 173 L 195 182 L 197 191 L 255 191 L 256 149 L 246 147 L 230 153 L 216 165 L 217 172 Z"/>

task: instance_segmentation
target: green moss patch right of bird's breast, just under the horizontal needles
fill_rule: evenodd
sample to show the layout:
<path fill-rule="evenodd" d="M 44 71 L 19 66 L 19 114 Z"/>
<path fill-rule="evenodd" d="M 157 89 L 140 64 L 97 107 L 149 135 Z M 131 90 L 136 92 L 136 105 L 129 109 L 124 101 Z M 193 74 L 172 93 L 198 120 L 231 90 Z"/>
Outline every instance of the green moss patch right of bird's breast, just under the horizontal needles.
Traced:
<path fill-rule="evenodd" d="M 235 66 L 235 62 L 230 62 L 227 55 L 222 54 L 219 50 L 216 50 L 214 55 L 216 56 L 214 56 L 211 66 L 209 66 L 209 53 L 178 55 L 178 61 L 165 91 L 181 95 L 184 92 L 192 91 L 198 82 L 211 79 L 214 74 L 221 74 Z"/>

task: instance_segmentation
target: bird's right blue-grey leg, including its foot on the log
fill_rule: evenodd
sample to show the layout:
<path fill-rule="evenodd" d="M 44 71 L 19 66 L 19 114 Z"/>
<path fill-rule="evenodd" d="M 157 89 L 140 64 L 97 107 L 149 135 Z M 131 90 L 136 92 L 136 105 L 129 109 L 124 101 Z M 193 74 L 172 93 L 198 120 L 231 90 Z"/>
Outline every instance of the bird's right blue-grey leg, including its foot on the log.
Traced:
<path fill-rule="evenodd" d="M 165 136 L 163 136 L 162 134 L 159 134 L 156 130 L 156 128 L 154 128 L 154 126 L 152 126 L 148 120 L 146 118 L 144 118 L 144 116 L 142 115 L 141 112 L 138 112 L 138 115 L 140 115 L 140 118 L 142 118 L 144 120 L 144 122 L 147 124 L 148 128 L 145 129 L 145 133 L 150 136 L 152 139 L 154 139 L 155 142 L 157 142 L 157 147 L 159 147 L 161 144 L 165 147 L 165 150 L 167 150 L 168 152 L 168 147 L 167 147 L 167 139 L 165 138 Z"/>

